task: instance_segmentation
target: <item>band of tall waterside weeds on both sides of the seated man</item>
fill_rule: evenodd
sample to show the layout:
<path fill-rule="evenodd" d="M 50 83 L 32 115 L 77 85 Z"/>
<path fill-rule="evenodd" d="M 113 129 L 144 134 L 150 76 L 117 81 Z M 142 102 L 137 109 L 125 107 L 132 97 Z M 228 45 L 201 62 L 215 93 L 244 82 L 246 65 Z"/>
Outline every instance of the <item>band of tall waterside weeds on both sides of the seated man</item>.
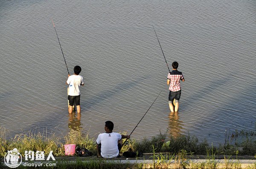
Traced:
<path fill-rule="evenodd" d="M 70 132 L 63 138 L 54 134 L 46 135 L 41 132 L 24 132 L 7 140 L 6 131 L 0 128 L 0 157 L 4 157 L 7 150 L 17 148 L 21 155 L 27 150 L 44 151 L 48 155 L 52 150 L 54 156 L 64 156 L 64 144 L 76 144 L 77 146 L 89 149 L 96 155 L 95 138 L 82 135 L 81 132 Z M 244 138 L 241 141 L 241 137 Z M 238 141 L 238 139 L 240 142 Z M 199 141 L 191 135 L 180 135 L 178 137 L 159 134 L 151 139 L 144 138 L 140 141 L 131 140 L 122 148 L 122 152 L 131 149 L 135 152 L 153 153 L 169 152 L 171 154 L 186 155 L 256 155 L 256 134 L 254 132 L 236 131 L 226 136 L 225 143 L 219 146 L 212 146 L 206 140 Z M 121 152 L 121 153 L 122 153 Z"/>

